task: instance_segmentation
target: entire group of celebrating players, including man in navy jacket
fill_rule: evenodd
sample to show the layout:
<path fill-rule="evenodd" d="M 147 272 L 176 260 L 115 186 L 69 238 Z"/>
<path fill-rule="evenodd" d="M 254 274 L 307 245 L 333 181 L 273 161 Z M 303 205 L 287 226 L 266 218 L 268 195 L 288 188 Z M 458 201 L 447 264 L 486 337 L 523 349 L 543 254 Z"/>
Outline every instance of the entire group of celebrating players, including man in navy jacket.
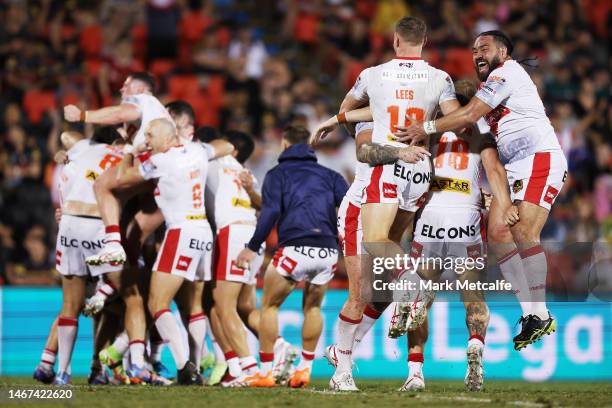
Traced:
<path fill-rule="evenodd" d="M 362 270 L 369 270 L 373 258 L 406 254 L 400 241 L 409 230 L 414 234 L 408 254 L 414 258 L 476 258 L 487 251 L 495 256 L 522 309 L 516 350 L 552 333 L 556 322 L 545 302 L 540 232 L 567 177 L 567 163 L 536 86 L 512 59 L 512 42 L 500 31 L 474 41 L 478 89 L 468 81 L 453 83 L 425 62 L 425 43 L 425 23 L 402 18 L 393 38 L 395 58 L 365 69 L 338 115 L 312 136 L 299 127 L 284 131 L 284 151 L 266 175 L 262 195 L 242 167 L 252 139 L 202 129 L 195 132 L 198 141 L 192 140 L 191 107 L 181 101 L 164 107 L 152 94 L 148 74 L 126 79 L 118 106 L 66 106 L 69 122 L 123 124 L 123 137 L 107 127 L 91 140 L 76 132 L 62 135 L 56 254 L 64 300 L 34 377 L 70 383 L 77 319 L 84 311 L 96 322 L 90 383 L 166 385 L 175 377 L 178 384 L 202 384 L 201 372 L 212 368 L 208 384 L 307 386 L 322 330 L 320 306 L 337 262 L 336 235 L 349 295 L 337 342 L 325 349 L 336 369 L 333 390 L 358 390 L 353 351 L 391 303 L 366 299 Z M 308 145 L 342 124 L 355 135 L 359 161 L 350 187 L 318 165 Z M 486 224 L 481 169 L 493 196 Z M 331 225 L 336 208 L 337 231 Z M 262 244 L 275 224 L 279 249 L 266 269 L 256 310 Z M 156 250 L 160 229 L 165 232 Z M 466 233 L 449 233 L 459 230 Z M 390 272 L 418 284 L 439 279 L 443 271 L 420 266 Z M 457 279 L 480 272 L 457 271 Z M 85 300 L 88 276 L 98 284 Z M 298 349 L 278 336 L 277 312 L 300 281 L 306 282 L 303 344 L 293 367 Z M 482 292 L 463 295 L 469 332 L 465 384 L 479 391 L 489 310 Z M 173 300 L 188 342 L 170 313 Z M 432 291 L 418 289 L 394 302 L 389 336 L 408 339 L 402 391 L 425 388 L 423 350 L 433 301 Z M 259 338 L 259 366 L 245 327 Z M 161 364 L 163 344 L 176 376 Z"/>

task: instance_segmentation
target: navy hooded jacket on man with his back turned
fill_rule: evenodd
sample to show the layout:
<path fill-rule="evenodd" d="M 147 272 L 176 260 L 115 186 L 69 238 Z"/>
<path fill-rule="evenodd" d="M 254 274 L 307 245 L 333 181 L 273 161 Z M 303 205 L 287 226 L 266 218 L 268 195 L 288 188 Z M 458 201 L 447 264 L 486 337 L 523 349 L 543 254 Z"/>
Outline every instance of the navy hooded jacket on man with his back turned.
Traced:
<path fill-rule="evenodd" d="M 289 146 L 264 178 L 262 208 L 248 244 L 259 251 L 278 222 L 279 246 L 338 247 L 336 207 L 348 185 L 337 172 L 317 163 L 309 145 Z"/>

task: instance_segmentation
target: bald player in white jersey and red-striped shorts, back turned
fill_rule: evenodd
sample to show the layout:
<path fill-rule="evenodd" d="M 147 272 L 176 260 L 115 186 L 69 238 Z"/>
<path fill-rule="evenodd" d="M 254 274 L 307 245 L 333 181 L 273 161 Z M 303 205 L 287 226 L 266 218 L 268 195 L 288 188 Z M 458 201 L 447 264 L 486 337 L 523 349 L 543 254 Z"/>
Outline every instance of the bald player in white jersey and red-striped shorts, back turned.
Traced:
<path fill-rule="evenodd" d="M 180 144 L 174 123 L 151 121 L 145 140 L 152 155 L 138 167 L 128 154 L 117 172 L 117 183 L 130 188 L 156 182 L 155 201 L 166 222 L 166 233 L 153 266 L 149 311 L 161 337 L 169 342 L 179 384 L 201 384 L 196 366 L 188 360 L 170 303 L 183 281 L 204 280 L 209 270 L 212 231 L 206 220 L 204 180 L 208 152 L 201 144 Z"/>

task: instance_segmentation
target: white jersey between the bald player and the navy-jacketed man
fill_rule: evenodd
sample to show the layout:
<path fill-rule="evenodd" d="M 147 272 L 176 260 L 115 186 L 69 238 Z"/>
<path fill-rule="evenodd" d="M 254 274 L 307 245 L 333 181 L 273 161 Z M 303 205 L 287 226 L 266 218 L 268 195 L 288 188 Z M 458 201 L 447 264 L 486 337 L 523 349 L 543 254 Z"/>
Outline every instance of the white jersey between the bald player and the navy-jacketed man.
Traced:
<path fill-rule="evenodd" d="M 257 222 L 255 209 L 240 179 L 244 167 L 232 156 L 209 162 L 206 177 L 206 214 L 217 229 L 235 222 Z"/>

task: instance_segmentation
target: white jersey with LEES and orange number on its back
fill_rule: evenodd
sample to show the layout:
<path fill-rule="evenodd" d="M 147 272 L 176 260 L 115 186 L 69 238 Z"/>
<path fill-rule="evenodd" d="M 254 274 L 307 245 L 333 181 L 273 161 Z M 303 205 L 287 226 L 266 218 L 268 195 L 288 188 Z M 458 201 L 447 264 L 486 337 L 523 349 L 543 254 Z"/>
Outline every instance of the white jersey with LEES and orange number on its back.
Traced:
<path fill-rule="evenodd" d="M 402 146 L 393 136 L 397 126 L 430 120 L 441 102 L 455 99 L 448 74 L 420 58 L 396 57 L 364 73 L 362 80 L 366 81 L 374 118 L 374 143 Z"/>

